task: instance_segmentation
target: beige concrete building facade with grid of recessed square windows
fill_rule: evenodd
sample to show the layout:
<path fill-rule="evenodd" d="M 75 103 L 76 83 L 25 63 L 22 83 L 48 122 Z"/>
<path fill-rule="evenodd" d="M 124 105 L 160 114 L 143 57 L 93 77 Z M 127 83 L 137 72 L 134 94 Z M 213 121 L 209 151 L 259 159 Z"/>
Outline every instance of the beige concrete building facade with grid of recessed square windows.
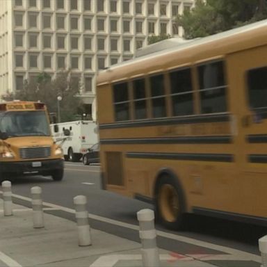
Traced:
<path fill-rule="evenodd" d="M 129 60 L 149 35 L 181 37 L 175 17 L 195 0 L 0 1 L 0 95 L 40 72 L 72 69 L 87 104 L 98 70 Z"/>

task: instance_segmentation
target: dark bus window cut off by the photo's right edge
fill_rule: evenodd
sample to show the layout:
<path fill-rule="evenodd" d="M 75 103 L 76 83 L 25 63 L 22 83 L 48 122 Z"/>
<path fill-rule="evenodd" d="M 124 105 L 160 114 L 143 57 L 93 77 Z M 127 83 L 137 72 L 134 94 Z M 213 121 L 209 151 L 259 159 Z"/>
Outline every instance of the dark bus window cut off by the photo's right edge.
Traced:
<path fill-rule="evenodd" d="M 267 67 L 248 71 L 248 97 L 250 108 L 267 107 Z"/>

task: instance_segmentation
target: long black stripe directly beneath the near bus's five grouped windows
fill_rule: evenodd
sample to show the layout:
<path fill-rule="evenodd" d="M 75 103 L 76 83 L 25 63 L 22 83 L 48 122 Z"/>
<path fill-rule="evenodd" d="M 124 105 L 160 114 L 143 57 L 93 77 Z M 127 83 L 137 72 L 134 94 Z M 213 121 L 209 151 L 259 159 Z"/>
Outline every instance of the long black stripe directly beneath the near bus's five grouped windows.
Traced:
<path fill-rule="evenodd" d="M 204 123 L 204 122 L 229 122 L 229 120 L 230 120 L 229 114 L 194 115 L 186 118 L 168 118 L 168 119 L 161 118 L 154 120 L 99 124 L 99 129 L 145 127 L 145 126 L 158 126 L 158 125 L 170 125 L 170 124 L 193 124 L 193 123 Z"/>

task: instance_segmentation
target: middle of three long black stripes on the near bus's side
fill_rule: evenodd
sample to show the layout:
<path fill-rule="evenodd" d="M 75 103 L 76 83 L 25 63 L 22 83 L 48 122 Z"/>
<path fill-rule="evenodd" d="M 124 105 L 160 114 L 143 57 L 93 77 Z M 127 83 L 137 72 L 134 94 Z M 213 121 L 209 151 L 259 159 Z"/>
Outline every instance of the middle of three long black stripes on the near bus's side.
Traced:
<path fill-rule="evenodd" d="M 114 138 L 102 139 L 103 145 L 122 144 L 229 144 L 231 136 L 179 136 L 167 138 Z"/>

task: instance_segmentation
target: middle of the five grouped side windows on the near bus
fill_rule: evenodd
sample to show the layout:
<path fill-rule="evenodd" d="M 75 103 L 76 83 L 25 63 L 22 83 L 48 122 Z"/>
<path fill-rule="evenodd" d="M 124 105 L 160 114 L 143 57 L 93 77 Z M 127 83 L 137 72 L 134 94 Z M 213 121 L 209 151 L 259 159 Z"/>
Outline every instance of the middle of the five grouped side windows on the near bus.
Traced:
<path fill-rule="evenodd" d="M 166 117 L 163 74 L 150 76 L 149 82 L 150 82 L 150 95 L 152 101 L 152 116 L 153 118 Z"/>

